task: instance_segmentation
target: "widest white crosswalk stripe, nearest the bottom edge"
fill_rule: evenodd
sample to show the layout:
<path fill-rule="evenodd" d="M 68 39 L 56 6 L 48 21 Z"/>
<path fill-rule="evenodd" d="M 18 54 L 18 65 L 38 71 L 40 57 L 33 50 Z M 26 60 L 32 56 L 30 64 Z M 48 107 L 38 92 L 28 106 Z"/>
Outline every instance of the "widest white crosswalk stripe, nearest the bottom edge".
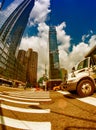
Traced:
<path fill-rule="evenodd" d="M 31 122 L 0 116 L 0 124 L 23 130 L 51 130 L 50 122 Z"/>

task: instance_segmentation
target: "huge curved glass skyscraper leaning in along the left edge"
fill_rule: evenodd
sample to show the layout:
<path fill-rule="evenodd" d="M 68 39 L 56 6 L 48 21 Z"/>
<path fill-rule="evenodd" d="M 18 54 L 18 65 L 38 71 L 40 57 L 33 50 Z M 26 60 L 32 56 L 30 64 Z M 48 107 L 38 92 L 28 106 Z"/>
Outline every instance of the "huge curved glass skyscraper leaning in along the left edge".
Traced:
<path fill-rule="evenodd" d="M 22 79 L 25 70 L 17 61 L 15 54 L 19 48 L 34 1 L 23 0 L 0 28 L 0 75 L 11 79 L 26 80 Z"/>

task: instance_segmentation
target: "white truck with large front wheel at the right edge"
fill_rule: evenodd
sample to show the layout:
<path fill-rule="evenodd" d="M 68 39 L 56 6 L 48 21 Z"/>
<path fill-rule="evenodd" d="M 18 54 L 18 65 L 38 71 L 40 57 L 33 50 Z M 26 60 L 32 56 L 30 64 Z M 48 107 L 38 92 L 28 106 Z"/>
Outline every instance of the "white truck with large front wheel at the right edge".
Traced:
<path fill-rule="evenodd" d="M 96 55 L 86 57 L 73 67 L 62 89 L 76 90 L 80 97 L 92 95 L 96 89 Z"/>

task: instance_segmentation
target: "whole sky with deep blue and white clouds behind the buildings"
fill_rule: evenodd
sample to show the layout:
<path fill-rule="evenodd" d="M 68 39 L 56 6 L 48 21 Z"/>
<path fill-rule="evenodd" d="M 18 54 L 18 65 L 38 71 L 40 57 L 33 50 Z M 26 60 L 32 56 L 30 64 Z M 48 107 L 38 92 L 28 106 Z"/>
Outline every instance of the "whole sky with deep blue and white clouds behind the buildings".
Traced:
<path fill-rule="evenodd" d="M 0 20 L 8 17 L 22 1 L 5 0 Z M 32 48 L 38 52 L 39 75 L 44 73 L 45 64 L 49 68 L 48 26 L 57 29 L 60 67 L 71 70 L 96 45 L 95 13 L 96 0 L 36 0 L 20 49 Z"/>

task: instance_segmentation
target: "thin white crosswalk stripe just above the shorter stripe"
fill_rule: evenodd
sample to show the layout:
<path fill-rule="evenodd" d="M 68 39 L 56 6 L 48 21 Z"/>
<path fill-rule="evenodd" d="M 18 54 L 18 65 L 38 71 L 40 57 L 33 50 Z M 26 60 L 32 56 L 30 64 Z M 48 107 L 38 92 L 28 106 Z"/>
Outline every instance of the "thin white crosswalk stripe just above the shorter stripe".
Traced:
<path fill-rule="evenodd" d="M 19 99 L 19 100 L 24 100 L 24 101 L 51 101 L 52 99 L 51 98 L 45 98 L 45 99 L 38 99 L 38 98 L 33 98 L 33 99 L 30 99 L 30 98 L 21 98 L 21 97 L 14 97 L 14 96 L 9 96 L 9 95 L 0 95 L 2 97 L 7 97 L 7 98 L 11 98 L 11 99 Z"/>

